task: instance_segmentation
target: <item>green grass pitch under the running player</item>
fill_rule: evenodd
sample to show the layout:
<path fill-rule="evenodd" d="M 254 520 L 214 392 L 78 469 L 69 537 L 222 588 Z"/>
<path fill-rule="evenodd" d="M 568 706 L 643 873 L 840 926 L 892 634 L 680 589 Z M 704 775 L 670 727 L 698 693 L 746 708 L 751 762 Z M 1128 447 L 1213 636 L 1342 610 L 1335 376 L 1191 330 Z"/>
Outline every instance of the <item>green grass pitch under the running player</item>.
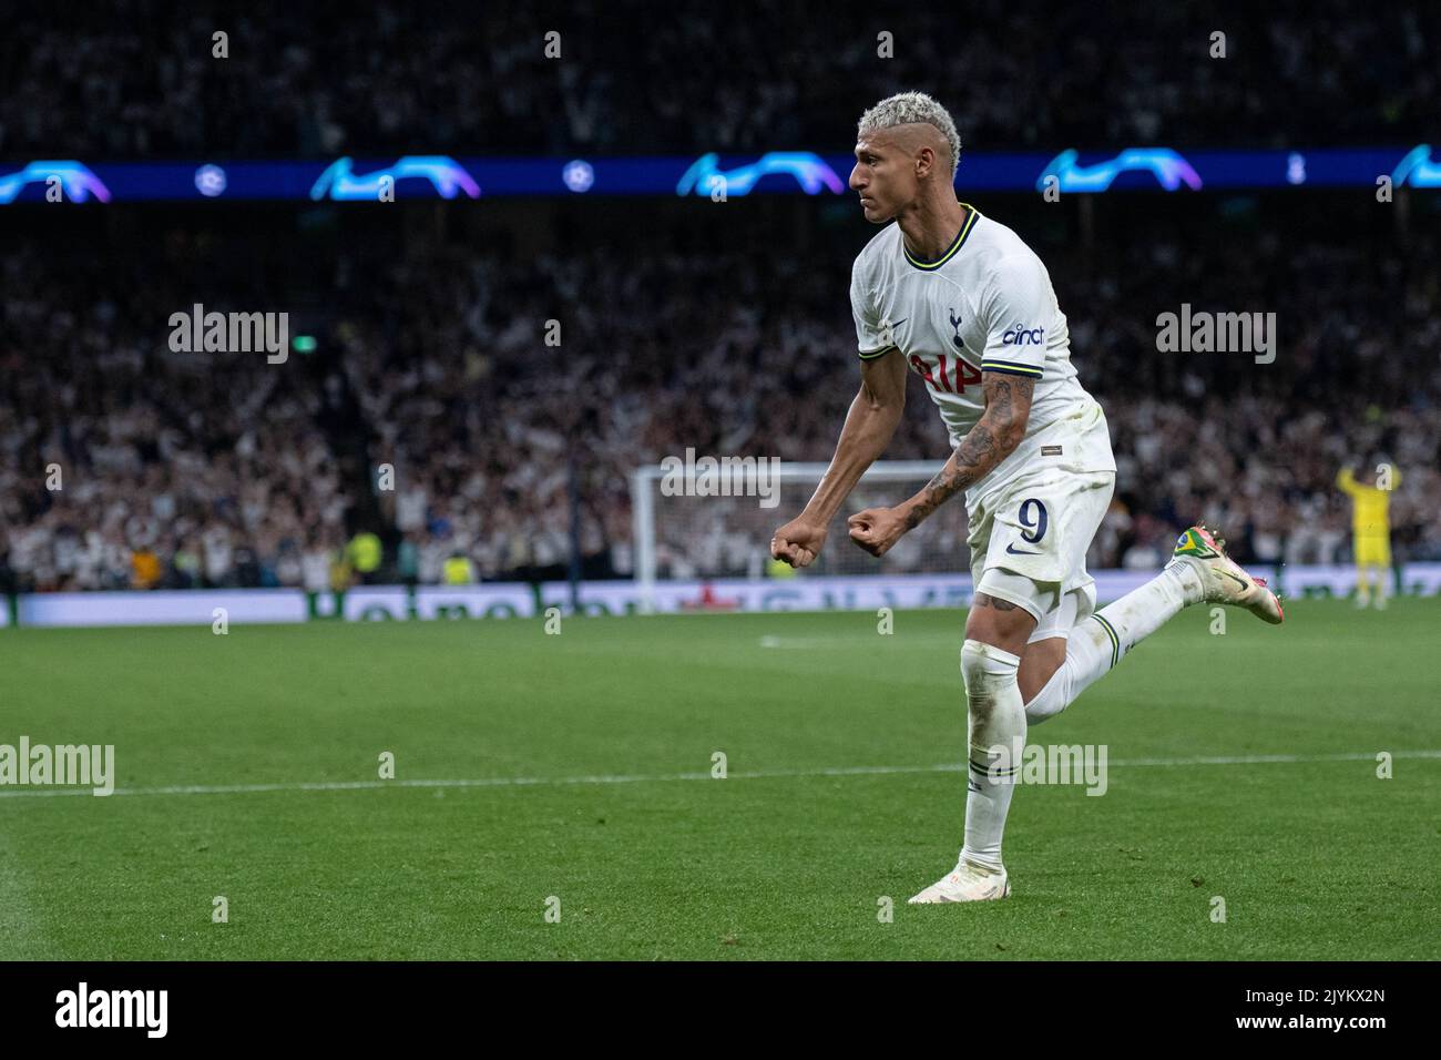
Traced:
<path fill-rule="evenodd" d="M 1108 790 L 1019 789 L 964 907 L 905 904 L 961 839 L 955 611 L 0 630 L 0 743 L 121 789 L 0 787 L 0 958 L 1437 959 L 1441 603 L 1226 619 L 1032 728 Z"/>

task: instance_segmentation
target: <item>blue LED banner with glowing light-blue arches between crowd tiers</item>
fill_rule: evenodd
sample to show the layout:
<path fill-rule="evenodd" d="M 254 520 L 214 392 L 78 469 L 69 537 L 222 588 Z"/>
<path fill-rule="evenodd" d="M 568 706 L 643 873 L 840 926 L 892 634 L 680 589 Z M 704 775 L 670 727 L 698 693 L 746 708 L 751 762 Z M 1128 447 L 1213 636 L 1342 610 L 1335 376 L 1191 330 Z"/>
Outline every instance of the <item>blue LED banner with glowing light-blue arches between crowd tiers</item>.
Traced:
<path fill-rule="evenodd" d="M 291 199 L 385 202 L 552 195 L 679 195 L 739 198 L 765 193 L 850 195 L 847 154 L 769 151 L 761 156 L 635 159 L 493 159 L 408 154 L 334 162 L 135 162 L 50 159 L 0 163 L 0 205 L 12 202 L 205 202 Z M 1062 195 L 1160 190 L 1186 193 L 1248 187 L 1441 187 L 1441 159 L 1412 147 L 984 154 L 965 151 L 957 187 Z"/>

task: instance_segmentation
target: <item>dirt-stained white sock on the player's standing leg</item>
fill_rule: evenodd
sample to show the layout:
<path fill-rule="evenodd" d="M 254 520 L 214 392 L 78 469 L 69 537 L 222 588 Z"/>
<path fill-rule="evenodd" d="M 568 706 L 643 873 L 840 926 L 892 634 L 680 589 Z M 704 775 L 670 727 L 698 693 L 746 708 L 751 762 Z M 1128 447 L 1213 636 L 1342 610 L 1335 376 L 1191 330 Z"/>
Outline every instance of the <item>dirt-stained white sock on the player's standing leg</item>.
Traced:
<path fill-rule="evenodd" d="M 961 861 L 1001 870 L 1000 841 L 1026 744 L 1026 707 L 1016 672 L 1020 656 L 980 640 L 961 646 L 961 676 L 970 718 L 965 785 L 965 845 Z M 1003 748 L 1003 750 L 997 750 Z"/>

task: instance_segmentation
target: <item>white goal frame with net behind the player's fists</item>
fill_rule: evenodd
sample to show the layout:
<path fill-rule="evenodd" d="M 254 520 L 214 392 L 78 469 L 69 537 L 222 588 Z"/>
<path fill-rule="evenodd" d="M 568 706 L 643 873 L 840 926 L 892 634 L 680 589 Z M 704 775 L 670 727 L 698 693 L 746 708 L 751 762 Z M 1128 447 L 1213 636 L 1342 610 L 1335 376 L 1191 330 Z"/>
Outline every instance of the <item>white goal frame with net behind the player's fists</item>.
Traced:
<path fill-rule="evenodd" d="M 700 461 L 677 473 L 679 460 L 637 467 L 631 473 L 634 577 L 643 610 L 654 609 L 663 581 L 767 578 L 771 536 L 810 500 L 826 474 L 823 463 L 772 461 L 739 474 L 723 461 L 696 473 Z M 719 467 L 716 464 L 720 464 Z M 863 508 L 901 503 L 944 467 L 941 460 L 879 460 L 856 483 L 830 524 L 830 536 L 816 562 L 795 577 L 836 574 L 964 574 L 965 505 L 960 499 L 937 509 L 879 560 L 853 545 L 846 516 Z M 716 470 L 708 477 L 706 470 Z M 758 472 L 758 473 L 757 473 Z M 790 571 L 781 574 L 788 575 Z"/>

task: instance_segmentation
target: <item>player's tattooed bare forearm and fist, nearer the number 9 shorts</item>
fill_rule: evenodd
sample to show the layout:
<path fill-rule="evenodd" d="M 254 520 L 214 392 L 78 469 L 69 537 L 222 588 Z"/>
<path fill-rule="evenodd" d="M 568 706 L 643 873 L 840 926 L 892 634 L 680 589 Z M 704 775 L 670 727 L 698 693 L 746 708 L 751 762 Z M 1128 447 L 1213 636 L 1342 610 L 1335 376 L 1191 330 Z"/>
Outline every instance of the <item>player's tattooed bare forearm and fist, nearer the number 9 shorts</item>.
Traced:
<path fill-rule="evenodd" d="M 901 535 L 931 512 L 986 477 L 1026 437 L 1036 381 L 1023 375 L 981 372 L 986 411 L 925 489 L 896 508 L 867 508 L 850 516 L 850 539 L 872 555 L 885 555 Z"/>

